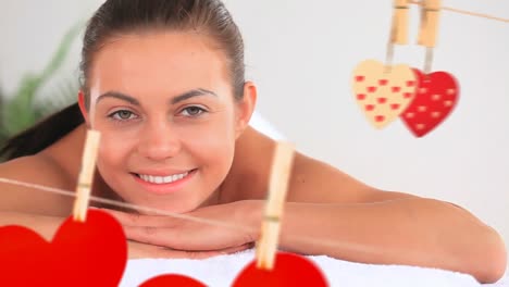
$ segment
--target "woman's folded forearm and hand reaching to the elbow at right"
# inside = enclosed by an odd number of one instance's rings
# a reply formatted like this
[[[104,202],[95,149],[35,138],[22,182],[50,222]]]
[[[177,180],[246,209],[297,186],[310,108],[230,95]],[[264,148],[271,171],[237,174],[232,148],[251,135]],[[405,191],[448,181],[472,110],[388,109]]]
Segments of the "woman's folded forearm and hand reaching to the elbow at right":
[[[264,205],[263,200],[243,200],[185,214],[207,224],[109,212],[132,240],[213,251],[259,240]],[[422,198],[373,203],[286,202],[280,248],[355,262],[458,271],[482,283],[496,282],[506,269],[505,246],[496,232],[462,209]]]

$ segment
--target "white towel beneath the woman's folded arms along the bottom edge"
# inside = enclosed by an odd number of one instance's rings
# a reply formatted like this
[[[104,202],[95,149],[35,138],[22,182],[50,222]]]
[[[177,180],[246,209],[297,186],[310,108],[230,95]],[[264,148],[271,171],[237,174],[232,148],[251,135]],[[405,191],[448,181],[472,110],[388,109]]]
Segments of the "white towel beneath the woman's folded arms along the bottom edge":
[[[481,285],[471,275],[444,270],[404,265],[361,264],[330,257],[307,257],[323,272],[330,286],[365,287],[509,287],[507,277],[494,285]],[[161,274],[190,276],[207,286],[231,286],[238,273],[254,259],[253,249],[204,260],[138,259],[129,260],[121,287],[138,286]]]

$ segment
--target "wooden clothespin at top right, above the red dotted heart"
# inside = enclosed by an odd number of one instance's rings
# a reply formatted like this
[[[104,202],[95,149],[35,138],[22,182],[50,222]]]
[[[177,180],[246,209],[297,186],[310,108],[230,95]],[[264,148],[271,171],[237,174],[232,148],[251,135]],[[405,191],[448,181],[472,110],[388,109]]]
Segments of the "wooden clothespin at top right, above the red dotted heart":
[[[435,47],[440,8],[440,0],[422,0],[419,45],[427,48]]]

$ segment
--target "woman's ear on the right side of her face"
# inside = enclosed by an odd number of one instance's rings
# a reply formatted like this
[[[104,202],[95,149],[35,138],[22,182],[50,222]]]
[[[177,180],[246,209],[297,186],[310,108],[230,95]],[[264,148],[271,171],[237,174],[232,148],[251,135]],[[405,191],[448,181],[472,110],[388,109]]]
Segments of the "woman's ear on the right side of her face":
[[[257,104],[257,86],[254,86],[254,83],[246,82],[244,84],[244,97],[240,101],[237,101],[236,138],[238,138],[249,125],[249,120],[251,120],[252,112]]]

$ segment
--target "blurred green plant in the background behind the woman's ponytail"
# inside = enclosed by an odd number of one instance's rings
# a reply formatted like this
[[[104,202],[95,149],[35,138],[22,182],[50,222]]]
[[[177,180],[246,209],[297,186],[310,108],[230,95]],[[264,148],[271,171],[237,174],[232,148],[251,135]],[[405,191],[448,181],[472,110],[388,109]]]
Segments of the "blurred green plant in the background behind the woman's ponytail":
[[[13,96],[7,97],[0,89],[0,147],[8,138],[33,126],[41,117],[75,99],[77,92],[76,80],[61,85],[58,90],[51,91],[49,97],[44,97],[44,100],[37,100],[36,95],[62,66],[82,26],[77,24],[65,33],[58,50],[42,72],[26,74]]]

